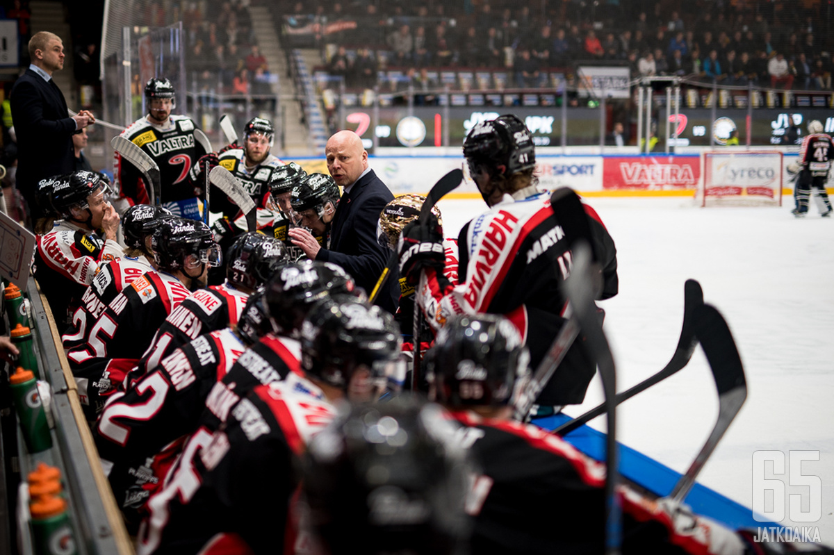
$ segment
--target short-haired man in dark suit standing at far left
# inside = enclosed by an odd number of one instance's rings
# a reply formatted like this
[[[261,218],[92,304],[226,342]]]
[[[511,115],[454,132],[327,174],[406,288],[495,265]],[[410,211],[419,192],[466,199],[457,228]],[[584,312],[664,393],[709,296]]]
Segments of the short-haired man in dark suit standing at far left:
[[[63,69],[61,37],[36,32],[29,40],[29,57],[32,65],[14,83],[9,102],[18,135],[18,189],[34,221],[43,216],[35,203],[38,182],[73,172],[73,133],[95,122],[95,118],[86,110],[69,117],[67,101],[53,81],[53,72]]]

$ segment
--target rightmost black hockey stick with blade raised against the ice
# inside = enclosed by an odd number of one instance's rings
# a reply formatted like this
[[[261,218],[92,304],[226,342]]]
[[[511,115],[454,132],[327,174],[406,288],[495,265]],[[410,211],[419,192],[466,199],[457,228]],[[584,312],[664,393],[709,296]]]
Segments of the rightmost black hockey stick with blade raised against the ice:
[[[669,497],[676,502],[683,502],[686,495],[695,485],[698,474],[710,458],[718,442],[730,427],[736,414],[741,410],[747,398],[747,383],[744,377],[744,367],[732,338],[730,328],[716,308],[708,304],[696,308],[695,333],[701,348],[704,349],[706,360],[710,363],[712,377],[718,389],[718,419],[712,428],[710,437],[701,448],[695,460],[681,476]]]

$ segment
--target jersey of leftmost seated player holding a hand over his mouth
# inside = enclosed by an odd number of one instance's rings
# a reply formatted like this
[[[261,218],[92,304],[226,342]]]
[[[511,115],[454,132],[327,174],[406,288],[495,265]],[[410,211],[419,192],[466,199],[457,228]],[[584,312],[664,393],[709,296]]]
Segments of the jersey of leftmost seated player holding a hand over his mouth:
[[[38,235],[34,275],[49,302],[58,329],[72,321],[84,292],[103,263],[123,255],[116,241],[61,220]]]

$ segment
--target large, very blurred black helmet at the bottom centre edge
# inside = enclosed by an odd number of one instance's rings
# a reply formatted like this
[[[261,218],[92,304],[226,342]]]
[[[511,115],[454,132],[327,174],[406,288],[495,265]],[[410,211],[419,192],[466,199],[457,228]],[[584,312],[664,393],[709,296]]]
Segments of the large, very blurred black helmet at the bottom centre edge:
[[[304,457],[309,522],[324,551],[460,552],[474,468],[457,438],[442,408],[415,398],[340,413]]]

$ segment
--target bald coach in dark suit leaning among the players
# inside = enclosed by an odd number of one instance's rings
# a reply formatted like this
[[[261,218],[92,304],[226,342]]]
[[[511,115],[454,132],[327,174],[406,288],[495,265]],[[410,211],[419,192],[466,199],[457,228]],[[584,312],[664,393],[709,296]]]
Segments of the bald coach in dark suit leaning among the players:
[[[329,248],[319,248],[313,236],[300,228],[290,231],[293,243],[308,258],[338,264],[370,294],[389,257],[389,251],[377,239],[379,213],[394,200],[394,195],[369,168],[368,152],[353,131],[335,133],[324,154],[330,176],[344,188],[330,226]],[[399,303],[396,279],[388,280],[376,303],[394,313]]]

